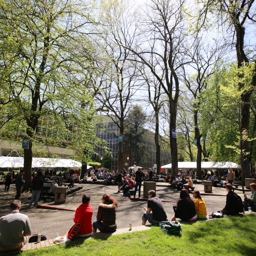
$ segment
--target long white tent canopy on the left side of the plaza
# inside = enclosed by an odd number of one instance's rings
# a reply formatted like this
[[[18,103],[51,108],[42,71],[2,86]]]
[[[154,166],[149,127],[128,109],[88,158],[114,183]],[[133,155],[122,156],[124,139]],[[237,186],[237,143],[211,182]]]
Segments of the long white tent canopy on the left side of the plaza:
[[[0,157],[0,168],[23,168],[23,157]],[[81,167],[82,164],[73,159],[33,157],[32,168]],[[87,166],[87,169],[92,166]]]

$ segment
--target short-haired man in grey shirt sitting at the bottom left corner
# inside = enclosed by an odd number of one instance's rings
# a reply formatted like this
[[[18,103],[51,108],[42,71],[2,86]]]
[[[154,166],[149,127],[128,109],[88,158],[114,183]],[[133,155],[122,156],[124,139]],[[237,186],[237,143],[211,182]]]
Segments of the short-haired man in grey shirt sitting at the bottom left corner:
[[[29,217],[20,208],[20,200],[12,200],[11,212],[0,218],[0,252],[20,250],[31,235]]]

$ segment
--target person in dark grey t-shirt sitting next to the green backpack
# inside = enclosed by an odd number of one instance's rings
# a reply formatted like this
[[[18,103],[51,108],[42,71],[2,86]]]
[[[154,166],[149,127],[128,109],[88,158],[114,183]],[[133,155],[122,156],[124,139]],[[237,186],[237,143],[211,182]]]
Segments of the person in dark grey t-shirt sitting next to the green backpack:
[[[142,216],[142,225],[148,221],[150,224],[159,224],[160,221],[166,221],[167,215],[163,207],[161,199],[157,198],[154,190],[148,191],[148,207],[144,207],[144,214]],[[150,213],[152,211],[152,213]]]

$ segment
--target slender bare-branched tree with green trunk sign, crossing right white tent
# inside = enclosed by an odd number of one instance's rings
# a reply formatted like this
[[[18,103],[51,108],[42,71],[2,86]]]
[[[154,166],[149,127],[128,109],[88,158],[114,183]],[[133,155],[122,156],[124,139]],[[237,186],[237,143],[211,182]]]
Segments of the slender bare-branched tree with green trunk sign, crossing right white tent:
[[[202,178],[202,153],[204,154],[204,157],[207,158],[205,155],[206,150],[203,150],[201,145],[201,138],[203,136],[200,128],[201,93],[207,87],[207,80],[215,72],[215,66],[218,65],[218,62],[221,60],[221,57],[224,55],[225,49],[227,48],[223,47],[220,41],[212,40],[212,44],[209,44],[209,41],[209,37],[207,38],[207,41],[205,41],[203,38],[196,36],[194,44],[186,52],[186,55],[191,61],[186,65],[188,67],[182,67],[183,82],[192,94],[194,134],[197,146],[196,174],[200,179]],[[191,75],[187,73],[188,69],[191,70]]]

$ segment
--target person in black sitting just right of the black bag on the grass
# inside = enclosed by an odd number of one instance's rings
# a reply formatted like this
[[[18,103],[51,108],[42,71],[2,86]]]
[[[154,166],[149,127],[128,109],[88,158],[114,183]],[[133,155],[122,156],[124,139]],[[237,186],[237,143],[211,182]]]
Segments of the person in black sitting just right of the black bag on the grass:
[[[244,211],[244,204],[239,195],[233,192],[233,186],[230,183],[226,185],[227,190],[227,200],[224,209],[222,210],[223,214],[227,215],[236,215],[239,212]]]

